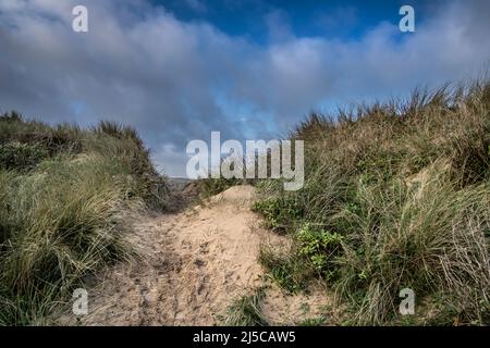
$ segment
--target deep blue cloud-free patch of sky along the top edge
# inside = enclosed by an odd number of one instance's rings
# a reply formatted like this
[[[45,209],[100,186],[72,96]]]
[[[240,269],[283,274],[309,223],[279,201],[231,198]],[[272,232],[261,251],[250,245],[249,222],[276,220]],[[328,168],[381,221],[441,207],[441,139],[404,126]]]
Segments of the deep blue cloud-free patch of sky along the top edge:
[[[230,36],[267,45],[270,42],[267,17],[271,15],[284,21],[284,26],[298,37],[355,40],[380,22],[397,24],[399,9],[406,1],[154,0],[152,3],[164,7],[181,21],[211,23]],[[419,21],[424,21],[434,3],[411,2],[419,9]]]

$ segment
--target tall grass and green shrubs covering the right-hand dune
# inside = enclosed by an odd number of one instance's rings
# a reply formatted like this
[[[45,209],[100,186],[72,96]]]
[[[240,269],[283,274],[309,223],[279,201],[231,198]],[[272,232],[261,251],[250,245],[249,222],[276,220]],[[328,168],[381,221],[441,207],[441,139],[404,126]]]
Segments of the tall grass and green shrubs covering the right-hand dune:
[[[279,285],[323,279],[350,324],[490,323],[490,83],[313,114],[292,138],[305,140],[305,186],[262,181],[253,207],[294,240],[261,252]]]

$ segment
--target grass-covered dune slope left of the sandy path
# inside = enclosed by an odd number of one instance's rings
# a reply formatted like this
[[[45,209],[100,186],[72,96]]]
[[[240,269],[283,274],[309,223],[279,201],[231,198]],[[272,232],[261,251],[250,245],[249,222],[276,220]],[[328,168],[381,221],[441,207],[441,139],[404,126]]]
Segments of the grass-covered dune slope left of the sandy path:
[[[166,209],[136,132],[0,116],[0,325],[42,324],[103,264],[133,256],[124,212]]]

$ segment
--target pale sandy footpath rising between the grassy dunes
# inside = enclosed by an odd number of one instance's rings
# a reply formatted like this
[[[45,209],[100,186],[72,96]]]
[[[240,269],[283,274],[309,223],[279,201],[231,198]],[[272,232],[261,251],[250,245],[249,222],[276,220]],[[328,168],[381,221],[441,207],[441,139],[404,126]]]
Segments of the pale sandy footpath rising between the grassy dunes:
[[[261,243],[286,238],[259,227],[249,210],[252,186],[236,186],[205,206],[176,214],[142,216],[128,234],[140,260],[119,264],[87,285],[88,314],[62,324],[219,325],[233,299],[265,283],[257,258]],[[262,313],[271,324],[295,324],[331,304],[326,290],[290,296],[268,286]]]

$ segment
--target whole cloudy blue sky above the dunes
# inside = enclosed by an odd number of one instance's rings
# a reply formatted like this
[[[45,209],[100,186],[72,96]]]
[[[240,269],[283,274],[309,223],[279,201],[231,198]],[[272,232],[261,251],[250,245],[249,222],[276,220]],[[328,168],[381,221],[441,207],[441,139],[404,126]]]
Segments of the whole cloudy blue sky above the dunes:
[[[0,111],[132,125],[185,176],[187,142],[212,130],[280,138],[311,111],[481,76],[488,33],[486,0],[0,0]]]

